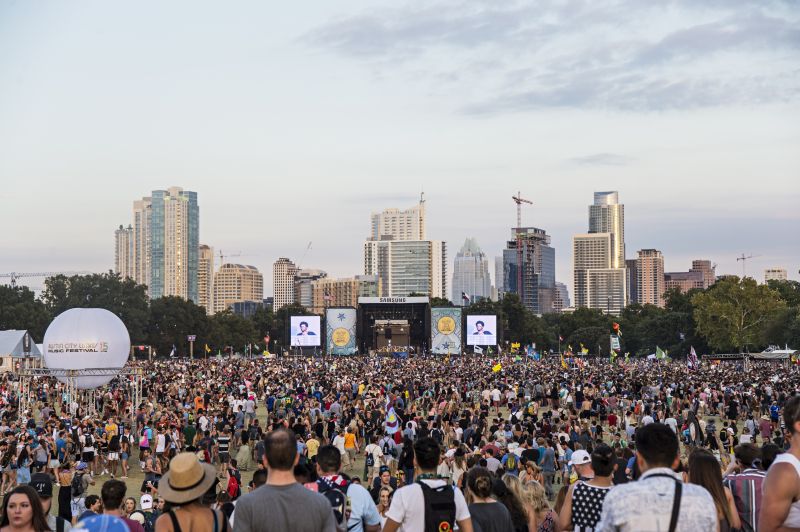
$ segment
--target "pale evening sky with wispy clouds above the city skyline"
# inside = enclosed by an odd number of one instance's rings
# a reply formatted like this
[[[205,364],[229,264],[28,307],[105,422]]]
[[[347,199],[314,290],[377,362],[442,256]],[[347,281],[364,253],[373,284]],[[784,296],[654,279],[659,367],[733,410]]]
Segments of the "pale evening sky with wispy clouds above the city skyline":
[[[0,273],[113,268],[133,201],[181,186],[265,295],[278,257],[363,273],[370,213],[422,191],[451,272],[467,237],[500,254],[520,191],[571,287],[572,235],[618,190],[628,258],[798,279],[800,10],[6,0],[0,146]]]

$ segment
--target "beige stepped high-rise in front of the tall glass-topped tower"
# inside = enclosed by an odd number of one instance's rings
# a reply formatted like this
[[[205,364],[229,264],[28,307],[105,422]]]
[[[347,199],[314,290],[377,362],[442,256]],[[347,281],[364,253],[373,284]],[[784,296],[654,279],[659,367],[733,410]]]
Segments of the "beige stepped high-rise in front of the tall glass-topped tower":
[[[610,233],[572,237],[573,296],[576,307],[619,314],[626,303],[625,268],[611,268],[614,252]]]

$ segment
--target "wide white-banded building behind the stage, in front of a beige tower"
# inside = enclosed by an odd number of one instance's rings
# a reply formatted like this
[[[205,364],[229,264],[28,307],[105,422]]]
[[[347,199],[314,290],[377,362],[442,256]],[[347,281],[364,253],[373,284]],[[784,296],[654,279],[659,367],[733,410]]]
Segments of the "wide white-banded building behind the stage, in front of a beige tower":
[[[439,240],[368,240],[364,274],[379,279],[381,297],[447,295],[447,245]]]

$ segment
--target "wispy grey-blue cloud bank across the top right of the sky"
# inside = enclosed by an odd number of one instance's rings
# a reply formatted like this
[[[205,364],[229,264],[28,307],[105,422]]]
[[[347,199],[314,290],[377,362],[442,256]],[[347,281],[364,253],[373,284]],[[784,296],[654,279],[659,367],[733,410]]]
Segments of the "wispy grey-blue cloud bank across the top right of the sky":
[[[331,21],[303,39],[425,84],[467,115],[683,110],[800,95],[800,15],[790,2],[407,4]]]

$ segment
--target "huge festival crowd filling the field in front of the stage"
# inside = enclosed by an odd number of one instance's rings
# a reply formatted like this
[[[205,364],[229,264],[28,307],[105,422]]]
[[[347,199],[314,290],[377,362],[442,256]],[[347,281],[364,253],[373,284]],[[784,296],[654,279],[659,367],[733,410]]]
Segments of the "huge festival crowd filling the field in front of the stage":
[[[87,404],[0,377],[1,530],[800,527],[800,372],[780,362],[134,364],[139,404],[119,379]]]

